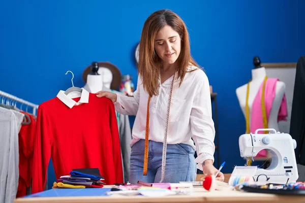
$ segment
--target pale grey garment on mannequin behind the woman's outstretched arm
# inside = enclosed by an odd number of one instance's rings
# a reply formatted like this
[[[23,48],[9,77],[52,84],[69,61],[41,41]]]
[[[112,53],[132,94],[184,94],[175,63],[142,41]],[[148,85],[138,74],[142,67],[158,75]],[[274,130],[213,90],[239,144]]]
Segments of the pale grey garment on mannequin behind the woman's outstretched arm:
[[[85,84],[83,88],[90,92],[90,88],[87,84]],[[122,94],[121,92],[109,89],[105,85],[103,86],[103,91],[111,91],[113,93]],[[132,141],[131,128],[130,128],[128,115],[123,115],[118,112],[115,112],[115,114],[118,124],[119,140],[121,146],[121,157],[123,161],[124,182],[127,183],[129,181],[129,174],[130,174],[130,155],[131,155],[130,143]]]

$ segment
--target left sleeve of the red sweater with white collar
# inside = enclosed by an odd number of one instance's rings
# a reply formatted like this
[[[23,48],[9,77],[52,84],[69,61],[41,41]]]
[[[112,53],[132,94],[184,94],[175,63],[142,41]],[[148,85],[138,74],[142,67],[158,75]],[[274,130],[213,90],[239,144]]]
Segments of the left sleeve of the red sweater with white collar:
[[[44,190],[47,179],[47,168],[51,157],[51,130],[48,128],[47,114],[38,108],[34,139],[32,193]]]

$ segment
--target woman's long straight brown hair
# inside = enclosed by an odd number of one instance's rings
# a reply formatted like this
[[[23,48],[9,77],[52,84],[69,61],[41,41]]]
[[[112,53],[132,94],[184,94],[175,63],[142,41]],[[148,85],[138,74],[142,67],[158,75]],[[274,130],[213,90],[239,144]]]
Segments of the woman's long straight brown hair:
[[[184,21],[170,10],[159,10],[151,14],[145,21],[139,43],[139,75],[143,81],[144,90],[150,95],[158,95],[158,80],[162,59],[155,51],[155,39],[158,32],[169,25],[181,39],[181,51],[177,58],[177,74],[181,85],[190,64],[199,67],[191,56],[190,40]]]

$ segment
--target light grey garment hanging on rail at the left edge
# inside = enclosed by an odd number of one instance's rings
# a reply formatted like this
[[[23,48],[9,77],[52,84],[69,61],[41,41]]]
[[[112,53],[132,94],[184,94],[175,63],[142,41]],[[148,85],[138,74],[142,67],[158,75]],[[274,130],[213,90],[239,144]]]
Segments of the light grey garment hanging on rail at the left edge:
[[[23,118],[13,111],[0,107],[0,202],[6,203],[16,198],[19,177],[18,129]]]

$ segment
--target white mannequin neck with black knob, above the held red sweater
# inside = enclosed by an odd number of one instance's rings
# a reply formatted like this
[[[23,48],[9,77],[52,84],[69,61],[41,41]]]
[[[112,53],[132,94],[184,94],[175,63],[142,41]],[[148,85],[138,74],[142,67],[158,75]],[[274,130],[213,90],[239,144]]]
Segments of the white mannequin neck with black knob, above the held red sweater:
[[[91,73],[87,75],[87,86],[90,92],[96,93],[103,89],[103,76],[98,73],[99,64],[93,62],[91,66]]]

